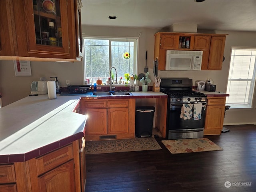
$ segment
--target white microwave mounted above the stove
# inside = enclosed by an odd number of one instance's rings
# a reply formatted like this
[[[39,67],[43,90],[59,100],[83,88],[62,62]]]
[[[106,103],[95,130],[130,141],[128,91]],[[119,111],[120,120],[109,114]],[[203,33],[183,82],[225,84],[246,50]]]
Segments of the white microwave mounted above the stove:
[[[167,71],[199,71],[202,65],[202,51],[166,51]]]

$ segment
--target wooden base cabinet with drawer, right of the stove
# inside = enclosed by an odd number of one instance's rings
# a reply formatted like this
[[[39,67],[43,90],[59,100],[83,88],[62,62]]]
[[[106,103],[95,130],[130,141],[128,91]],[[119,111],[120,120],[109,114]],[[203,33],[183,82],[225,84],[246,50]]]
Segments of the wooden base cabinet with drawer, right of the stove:
[[[224,121],[226,97],[208,97],[204,135],[219,135]]]

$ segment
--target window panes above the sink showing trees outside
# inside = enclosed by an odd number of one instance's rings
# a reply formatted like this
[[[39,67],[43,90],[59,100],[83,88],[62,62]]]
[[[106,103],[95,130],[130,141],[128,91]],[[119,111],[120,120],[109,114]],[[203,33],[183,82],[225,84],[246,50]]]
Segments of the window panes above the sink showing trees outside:
[[[118,80],[122,77],[125,81],[126,73],[136,74],[138,39],[83,37],[83,40],[84,79],[96,82],[100,77],[106,83],[111,67],[116,68]],[[124,58],[125,52],[130,54],[130,58]],[[115,70],[112,72],[115,80]]]

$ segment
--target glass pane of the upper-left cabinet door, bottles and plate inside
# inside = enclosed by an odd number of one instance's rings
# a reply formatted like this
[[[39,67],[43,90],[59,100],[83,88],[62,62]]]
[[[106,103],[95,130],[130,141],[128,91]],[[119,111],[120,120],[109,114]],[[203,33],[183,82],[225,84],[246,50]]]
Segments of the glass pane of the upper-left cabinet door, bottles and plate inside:
[[[59,0],[33,0],[36,44],[62,47]]]

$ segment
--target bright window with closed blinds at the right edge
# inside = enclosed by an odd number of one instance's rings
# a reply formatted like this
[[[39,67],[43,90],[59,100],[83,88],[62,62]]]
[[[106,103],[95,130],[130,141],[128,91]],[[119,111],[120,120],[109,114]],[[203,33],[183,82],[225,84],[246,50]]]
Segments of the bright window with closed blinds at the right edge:
[[[232,48],[226,104],[251,108],[256,74],[256,48]]]

